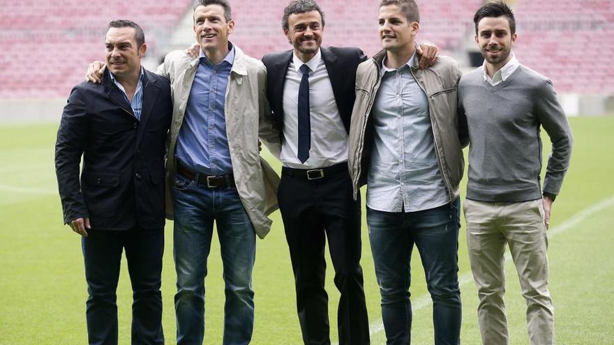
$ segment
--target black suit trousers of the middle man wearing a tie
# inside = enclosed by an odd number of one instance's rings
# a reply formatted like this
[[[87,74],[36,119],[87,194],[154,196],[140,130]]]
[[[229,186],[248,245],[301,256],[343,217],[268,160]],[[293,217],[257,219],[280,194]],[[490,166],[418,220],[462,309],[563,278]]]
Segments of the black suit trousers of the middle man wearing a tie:
[[[292,169],[284,168],[278,202],[290,248],[305,344],[330,344],[328,295],[324,289],[326,239],[335,269],[334,282],[341,293],[339,344],[369,344],[360,266],[360,199],[354,201],[352,197],[347,169],[308,180],[292,176]]]

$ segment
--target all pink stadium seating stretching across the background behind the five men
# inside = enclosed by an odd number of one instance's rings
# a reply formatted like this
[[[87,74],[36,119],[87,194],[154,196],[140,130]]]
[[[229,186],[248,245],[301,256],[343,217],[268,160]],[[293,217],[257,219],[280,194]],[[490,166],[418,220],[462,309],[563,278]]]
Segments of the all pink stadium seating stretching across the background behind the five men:
[[[288,0],[230,0],[236,22],[231,40],[247,54],[290,49],[281,29]],[[81,0],[3,0],[0,15],[0,98],[64,98],[83,79],[89,61],[103,59],[101,38],[110,20],[135,20],[150,46],[173,31],[191,0],[109,0],[93,10]],[[380,50],[379,0],[320,0],[327,24],[324,45]],[[462,52],[483,0],[419,0],[419,40],[443,54]],[[614,1],[516,0],[518,59],[553,80],[559,92],[614,93]],[[36,8],[36,11],[32,11]],[[599,38],[596,40],[595,38]],[[587,47],[597,49],[587,49]]]

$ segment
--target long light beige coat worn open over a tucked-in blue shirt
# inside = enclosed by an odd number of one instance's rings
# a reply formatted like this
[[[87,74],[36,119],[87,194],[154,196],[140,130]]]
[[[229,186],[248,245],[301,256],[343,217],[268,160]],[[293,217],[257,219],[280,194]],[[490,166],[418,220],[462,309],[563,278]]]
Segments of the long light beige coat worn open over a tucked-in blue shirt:
[[[261,61],[253,59],[234,45],[234,63],[230,70],[224,99],[226,135],[234,182],[258,237],[264,238],[271,229],[267,217],[278,208],[279,176],[269,163],[260,157],[258,139],[276,157],[281,151],[279,132],[267,101],[267,70]],[[199,58],[191,58],[182,51],[170,52],[158,67],[158,74],[170,79],[173,116],[169,133],[166,163],[166,215],[173,219],[171,186],[177,173],[175,148],[186,104],[196,75]]]

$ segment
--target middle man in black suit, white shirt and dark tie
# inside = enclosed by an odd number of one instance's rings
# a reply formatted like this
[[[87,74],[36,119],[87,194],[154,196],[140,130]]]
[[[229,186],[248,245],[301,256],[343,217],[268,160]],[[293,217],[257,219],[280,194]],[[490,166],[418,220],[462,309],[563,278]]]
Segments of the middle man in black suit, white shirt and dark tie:
[[[360,200],[352,198],[347,169],[356,69],[366,56],[358,48],[320,47],[323,29],[315,1],[293,1],[284,9],[283,31],[294,49],[262,58],[283,143],[278,202],[305,344],[330,344],[325,238],[341,293],[339,344],[368,344]]]

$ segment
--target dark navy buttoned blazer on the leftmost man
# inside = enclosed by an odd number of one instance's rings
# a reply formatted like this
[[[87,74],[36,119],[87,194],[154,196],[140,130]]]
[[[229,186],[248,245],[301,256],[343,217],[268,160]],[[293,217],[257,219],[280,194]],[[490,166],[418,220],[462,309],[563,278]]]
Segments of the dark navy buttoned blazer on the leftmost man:
[[[102,84],[77,84],[64,107],[55,146],[64,222],[89,217],[92,229],[164,227],[171,118],[170,82],[148,70],[140,121],[108,70]]]

